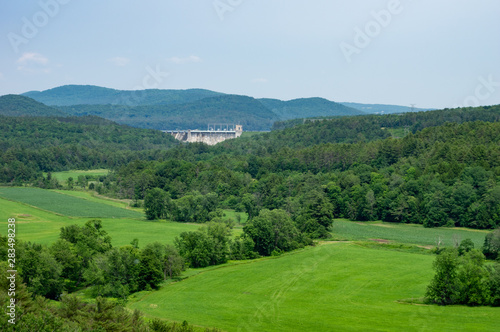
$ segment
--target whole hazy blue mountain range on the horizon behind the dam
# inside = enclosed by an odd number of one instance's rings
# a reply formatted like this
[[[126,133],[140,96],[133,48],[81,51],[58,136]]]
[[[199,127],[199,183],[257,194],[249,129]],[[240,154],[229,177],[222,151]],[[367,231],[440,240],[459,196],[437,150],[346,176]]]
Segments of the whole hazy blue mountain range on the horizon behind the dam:
[[[209,123],[238,123],[245,130],[270,130],[275,121],[371,113],[404,113],[409,107],[337,103],[324,98],[255,99],[205,89],[125,91],[65,85],[23,96],[69,115],[96,115],[151,129],[202,129]],[[420,109],[415,109],[418,111]]]

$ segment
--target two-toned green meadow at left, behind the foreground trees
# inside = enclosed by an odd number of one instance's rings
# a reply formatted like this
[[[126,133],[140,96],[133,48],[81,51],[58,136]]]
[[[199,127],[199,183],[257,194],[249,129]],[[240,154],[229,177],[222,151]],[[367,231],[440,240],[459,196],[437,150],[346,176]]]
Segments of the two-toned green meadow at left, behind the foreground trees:
[[[15,218],[17,239],[49,245],[59,238],[61,227],[100,219],[114,246],[128,245],[133,239],[140,246],[155,241],[173,243],[180,233],[199,227],[146,221],[142,212],[126,206],[86,192],[0,188],[0,225],[7,229],[7,219]]]

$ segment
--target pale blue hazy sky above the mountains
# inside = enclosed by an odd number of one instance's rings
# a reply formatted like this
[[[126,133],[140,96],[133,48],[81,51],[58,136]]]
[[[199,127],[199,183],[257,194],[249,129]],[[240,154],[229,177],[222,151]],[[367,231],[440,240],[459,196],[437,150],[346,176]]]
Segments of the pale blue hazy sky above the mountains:
[[[0,8],[0,95],[83,84],[417,108],[500,104],[498,0],[23,0]]]

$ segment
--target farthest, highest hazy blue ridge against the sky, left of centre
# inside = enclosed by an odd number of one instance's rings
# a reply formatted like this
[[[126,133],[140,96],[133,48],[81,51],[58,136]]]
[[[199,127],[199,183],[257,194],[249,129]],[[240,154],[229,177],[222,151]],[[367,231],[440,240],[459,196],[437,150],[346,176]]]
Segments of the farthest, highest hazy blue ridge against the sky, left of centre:
[[[23,94],[51,106],[69,105],[161,105],[184,104],[221,93],[203,90],[115,90],[93,85],[65,85],[45,91],[30,91]]]

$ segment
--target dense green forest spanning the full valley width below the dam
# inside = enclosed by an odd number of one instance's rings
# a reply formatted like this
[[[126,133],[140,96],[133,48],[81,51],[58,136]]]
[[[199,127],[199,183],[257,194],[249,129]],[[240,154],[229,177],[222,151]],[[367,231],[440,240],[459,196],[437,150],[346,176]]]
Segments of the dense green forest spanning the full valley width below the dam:
[[[320,236],[326,232],[307,224],[305,206],[326,204],[326,215],[358,221],[494,228],[500,222],[499,111],[494,106],[314,121],[215,147],[174,149],[168,149],[175,145],[171,137],[117,125],[88,125],[78,135],[71,121],[80,118],[45,119],[50,129],[43,121],[32,128],[29,119],[5,118],[1,176],[4,183],[46,184],[40,171],[112,167],[111,185],[98,186],[101,193],[140,203],[159,188],[180,206],[172,211],[184,211],[169,216],[179,221],[192,221],[186,206],[196,197],[214,195],[214,209],[251,217],[282,209],[299,228]],[[400,139],[387,130],[407,127]],[[44,133],[57,128],[61,136],[55,140]],[[79,140],[65,143],[63,136],[72,138],[63,128],[76,130]],[[53,143],[42,143],[44,138]],[[43,148],[28,148],[35,140]],[[164,150],[153,150],[158,147]]]

